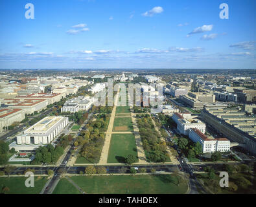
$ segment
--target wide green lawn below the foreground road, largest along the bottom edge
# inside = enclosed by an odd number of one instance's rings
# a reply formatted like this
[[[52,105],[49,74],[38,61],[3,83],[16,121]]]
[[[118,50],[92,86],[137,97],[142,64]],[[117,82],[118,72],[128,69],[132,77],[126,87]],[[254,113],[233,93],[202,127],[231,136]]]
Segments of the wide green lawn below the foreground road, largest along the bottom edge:
[[[73,176],[71,179],[90,194],[174,194],[187,191],[187,184],[178,186],[172,175]]]

